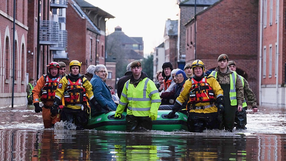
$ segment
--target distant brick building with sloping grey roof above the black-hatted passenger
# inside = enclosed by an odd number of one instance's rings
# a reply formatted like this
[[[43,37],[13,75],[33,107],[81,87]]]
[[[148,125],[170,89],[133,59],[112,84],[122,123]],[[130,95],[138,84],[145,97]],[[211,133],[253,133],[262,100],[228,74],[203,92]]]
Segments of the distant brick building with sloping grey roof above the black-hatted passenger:
[[[178,43],[178,20],[168,19],[164,30],[165,60],[171,62],[173,68],[177,68],[177,43]]]

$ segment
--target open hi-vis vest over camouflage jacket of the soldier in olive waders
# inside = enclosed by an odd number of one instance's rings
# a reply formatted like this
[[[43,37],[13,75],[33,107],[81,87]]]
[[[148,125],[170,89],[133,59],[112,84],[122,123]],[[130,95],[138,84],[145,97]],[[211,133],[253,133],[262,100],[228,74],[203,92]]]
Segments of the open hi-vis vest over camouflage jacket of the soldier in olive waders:
[[[210,74],[212,76],[214,76],[217,79],[217,71],[212,71],[212,73]],[[236,83],[236,72],[232,71],[231,74],[229,74],[230,76],[230,91],[229,91],[229,97],[230,97],[230,104],[231,106],[236,106],[237,105],[237,101],[236,101],[236,88],[235,88],[235,83]]]

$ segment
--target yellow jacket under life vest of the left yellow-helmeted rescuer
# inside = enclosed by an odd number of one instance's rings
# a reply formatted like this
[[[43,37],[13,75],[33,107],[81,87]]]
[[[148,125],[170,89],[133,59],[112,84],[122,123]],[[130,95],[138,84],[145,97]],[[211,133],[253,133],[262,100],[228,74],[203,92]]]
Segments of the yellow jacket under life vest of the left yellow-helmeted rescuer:
[[[72,83],[75,84],[76,82],[72,82]],[[92,85],[90,84],[90,82],[85,77],[83,77],[82,82],[80,83],[81,83],[81,86],[85,89],[85,92],[88,94],[88,98],[92,99],[94,96],[92,92]],[[57,97],[59,100],[62,100],[62,98],[64,97],[64,91],[66,91],[67,87],[68,87],[68,78],[63,77],[61,81],[59,82],[55,97]],[[68,107],[71,109],[81,109],[81,105],[82,103],[65,104],[64,107]]]

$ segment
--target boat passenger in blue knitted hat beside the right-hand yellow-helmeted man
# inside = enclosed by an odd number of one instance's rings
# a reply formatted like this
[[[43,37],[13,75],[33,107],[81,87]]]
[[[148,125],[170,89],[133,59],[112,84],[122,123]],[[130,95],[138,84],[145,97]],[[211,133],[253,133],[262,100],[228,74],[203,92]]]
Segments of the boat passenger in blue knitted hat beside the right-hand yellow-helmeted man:
[[[177,97],[181,93],[181,90],[183,88],[183,85],[185,84],[185,81],[188,80],[188,77],[186,76],[186,73],[183,70],[178,70],[176,72],[176,77],[173,78],[173,80],[174,79],[176,79],[177,84],[176,84],[175,88],[171,92],[164,92],[163,93],[164,95],[166,95],[165,98],[177,99]],[[185,101],[179,110],[185,109],[187,103],[188,103],[188,101]],[[174,105],[161,105],[161,106],[159,106],[159,110],[172,110],[173,107],[174,107]],[[183,111],[183,112],[185,113],[186,111]],[[167,117],[168,117],[168,115],[167,115]]]

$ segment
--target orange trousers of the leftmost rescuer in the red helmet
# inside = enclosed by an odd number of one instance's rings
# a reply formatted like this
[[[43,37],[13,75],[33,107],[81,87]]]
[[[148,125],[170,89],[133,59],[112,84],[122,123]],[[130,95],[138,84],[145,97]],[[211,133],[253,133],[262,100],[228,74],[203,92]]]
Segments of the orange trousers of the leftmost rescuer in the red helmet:
[[[50,109],[46,109],[43,107],[43,111],[42,111],[42,116],[43,116],[43,122],[44,122],[44,126],[45,128],[52,128],[52,124],[55,124],[56,122],[59,122],[60,119],[60,115],[56,115],[56,116],[51,116],[51,110]]]

